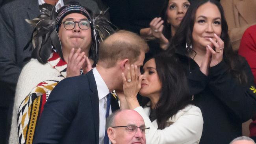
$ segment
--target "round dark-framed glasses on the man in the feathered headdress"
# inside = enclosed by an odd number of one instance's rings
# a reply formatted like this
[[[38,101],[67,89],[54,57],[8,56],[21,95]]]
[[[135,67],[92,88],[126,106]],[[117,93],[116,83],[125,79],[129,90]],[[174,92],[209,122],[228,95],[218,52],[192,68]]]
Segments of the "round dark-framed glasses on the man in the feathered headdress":
[[[91,21],[89,20],[81,20],[80,22],[74,22],[72,20],[66,20],[64,22],[61,22],[64,25],[64,28],[66,30],[73,30],[76,26],[76,23],[78,23],[78,26],[82,30],[88,30],[90,28]]]

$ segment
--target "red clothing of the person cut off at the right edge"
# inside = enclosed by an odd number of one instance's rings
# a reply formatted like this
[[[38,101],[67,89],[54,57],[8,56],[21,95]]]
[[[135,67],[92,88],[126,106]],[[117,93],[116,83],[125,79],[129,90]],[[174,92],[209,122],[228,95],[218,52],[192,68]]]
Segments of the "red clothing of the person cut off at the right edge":
[[[256,25],[250,26],[241,39],[238,54],[245,57],[248,61],[252,74],[254,76],[254,84],[256,84]],[[256,115],[252,118],[250,123],[250,137],[256,139]]]

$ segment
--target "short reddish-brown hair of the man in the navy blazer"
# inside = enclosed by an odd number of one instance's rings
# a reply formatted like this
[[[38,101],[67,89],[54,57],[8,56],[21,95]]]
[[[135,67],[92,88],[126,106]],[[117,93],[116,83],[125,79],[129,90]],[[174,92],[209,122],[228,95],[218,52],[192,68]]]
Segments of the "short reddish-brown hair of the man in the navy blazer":
[[[115,66],[122,59],[129,59],[133,63],[147,50],[147,43],[139,35],[120,30],[101,42],[98,63],[104,63],[106,68]]]

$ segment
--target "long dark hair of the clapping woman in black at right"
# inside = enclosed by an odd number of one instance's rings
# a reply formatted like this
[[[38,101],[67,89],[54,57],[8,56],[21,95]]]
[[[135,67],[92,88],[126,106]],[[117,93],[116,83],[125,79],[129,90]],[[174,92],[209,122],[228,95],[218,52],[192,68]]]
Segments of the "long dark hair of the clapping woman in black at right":
[[[203,4],[210,2],[218,7],[221,13],[221,36],[220,38],[224,41],[223,60],[228,65],[228,72],[239,79],[240,83],[247,81],[247,76],[243,70],[236,68],[236,63],[241,63],[241,57],[236,54],[230,44],[230,37],[228,35],[228,24],[224,17],[224,11],[221,4],[216,0],[195,0],[187,10],[185,17],[183,18],[180,27],[176,31],[176,34],[171,39],[170,45],[167,48],[167,53],[174,54],[178,49],[182,49],[187,56],[195,51],[191,50],[189,46],[193,45],[192,32],[195,23],[195,14],[198,7]],[[187,44],[187,48],[186,48]],[[196,55],[196,53],[195,53]]]

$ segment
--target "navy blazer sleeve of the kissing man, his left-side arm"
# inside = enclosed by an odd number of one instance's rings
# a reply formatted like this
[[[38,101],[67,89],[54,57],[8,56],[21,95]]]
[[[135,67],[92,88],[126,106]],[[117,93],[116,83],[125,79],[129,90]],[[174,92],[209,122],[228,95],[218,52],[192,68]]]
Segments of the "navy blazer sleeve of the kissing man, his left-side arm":
[[[65,135],[79,103],[79,90],[72,78],[63,79],[52,90],[35,129],[33,144],[58,144]]]

